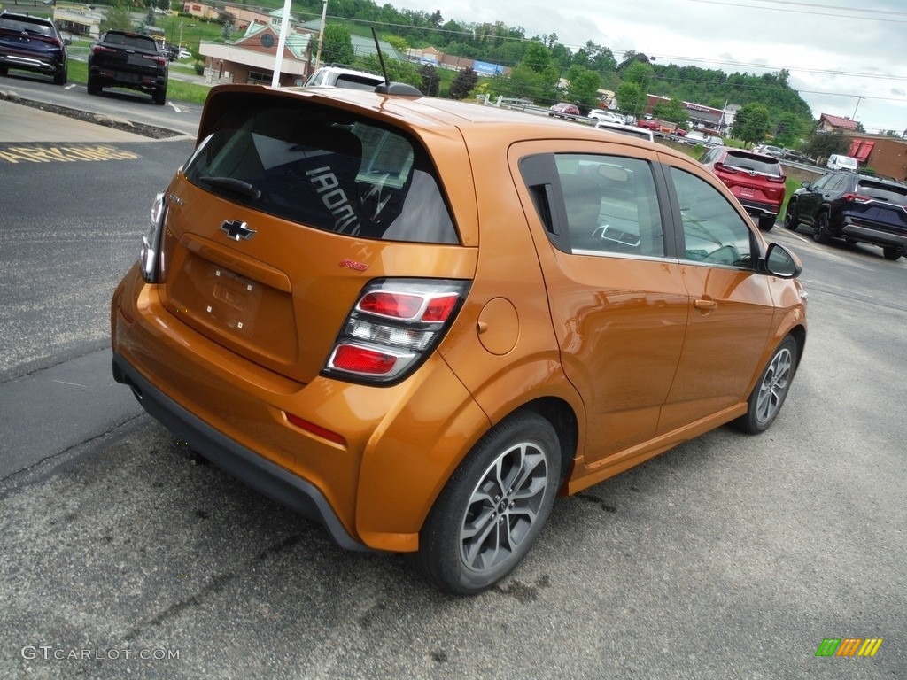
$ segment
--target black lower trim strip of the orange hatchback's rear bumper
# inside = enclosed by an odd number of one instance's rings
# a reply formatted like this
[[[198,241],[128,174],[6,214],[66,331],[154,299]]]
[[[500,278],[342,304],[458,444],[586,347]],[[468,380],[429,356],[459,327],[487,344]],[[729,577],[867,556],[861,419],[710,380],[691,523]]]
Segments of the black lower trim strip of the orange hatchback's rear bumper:
[[[344,528],[324,494],[308,481],[218,432],[146,380],[120,354],[113,355],[113,379],[128,385],[151,416],[191,448],[268,498],[325,526],[341,548],[367,550]]]

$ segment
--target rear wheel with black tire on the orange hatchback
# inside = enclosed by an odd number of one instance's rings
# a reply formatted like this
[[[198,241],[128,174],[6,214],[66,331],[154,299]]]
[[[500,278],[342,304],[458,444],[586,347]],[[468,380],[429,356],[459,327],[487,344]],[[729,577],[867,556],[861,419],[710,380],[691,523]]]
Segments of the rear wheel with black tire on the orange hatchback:
[[[476,443],[435,500],[416,567],[454,595],[492,588],[538,538],[560,481],[561,444],[551,423],[513,413]]]

